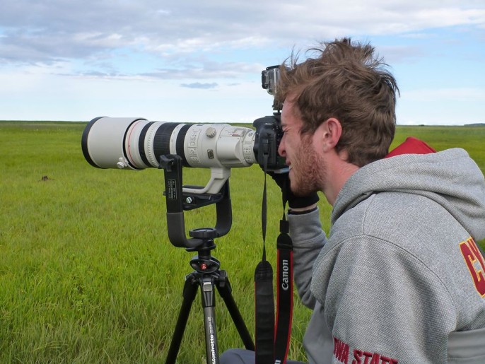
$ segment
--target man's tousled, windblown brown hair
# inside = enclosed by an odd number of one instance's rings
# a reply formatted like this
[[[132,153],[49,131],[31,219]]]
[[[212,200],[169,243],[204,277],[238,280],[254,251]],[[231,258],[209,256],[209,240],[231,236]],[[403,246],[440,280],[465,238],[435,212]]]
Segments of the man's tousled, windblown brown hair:
[[[383,158],[395,134],[395,78],[370,45],[348,38],[310,49],[318,57],[280,67],[277,100],[291,99],[303,122],[300,132],[313,134],[334,118],[341,124],[337,152],[362,167]],[[287,101],[288,101],[287,100]]]

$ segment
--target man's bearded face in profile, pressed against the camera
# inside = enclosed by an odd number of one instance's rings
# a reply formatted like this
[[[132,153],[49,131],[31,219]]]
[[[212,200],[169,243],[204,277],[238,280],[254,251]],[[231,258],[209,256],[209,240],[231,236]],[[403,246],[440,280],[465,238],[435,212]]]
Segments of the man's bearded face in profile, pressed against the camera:
[[[305,196],[320,190],[325,174],[325,161],[314,146],[313,134],[300,134],[303,121],[298,107],[288,99],[281,110],[284,131],[278,153],[290,168],[291,191]]]

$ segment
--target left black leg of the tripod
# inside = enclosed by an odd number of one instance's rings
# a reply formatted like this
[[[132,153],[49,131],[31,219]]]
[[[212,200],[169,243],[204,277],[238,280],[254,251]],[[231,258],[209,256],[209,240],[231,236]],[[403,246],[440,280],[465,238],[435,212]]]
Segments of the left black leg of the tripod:
[[[170,343],[170,348],[168,349],[165,364],[175,364],[175,360],[177,360],[182,337],[184,336],[185,326],[187,325],[187,320],[189,319],[190,309],[192,307],[192,303],[194,302],[195,295],[197,295],[198,283],[197,278],[194,277],[194,273],[189,274],[185,279],[184,290],[182,293],[184,300],[182,302],[182,307],[180,307],[180,313],[175,326],[175,331],[173,332],[172,342]]]

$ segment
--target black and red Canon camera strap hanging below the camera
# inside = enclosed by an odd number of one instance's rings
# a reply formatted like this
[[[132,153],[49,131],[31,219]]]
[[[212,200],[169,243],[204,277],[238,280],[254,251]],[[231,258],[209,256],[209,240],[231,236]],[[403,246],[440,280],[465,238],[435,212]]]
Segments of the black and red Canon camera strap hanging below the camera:
[[[273,269],[266,259],[267,225],[267,158],[264,158],[264,188],[262,199],[262,261],[255,271],[255,315],[256,315],[256,364],[286,363],[291,337],[293,315],[293,244],[288,235],[288,221],[284,209],[286,194],[283,193],[283,218],[280,221],[278,248],[276,329],[274,319]],[[275,335],[276,334],[276,335]]]

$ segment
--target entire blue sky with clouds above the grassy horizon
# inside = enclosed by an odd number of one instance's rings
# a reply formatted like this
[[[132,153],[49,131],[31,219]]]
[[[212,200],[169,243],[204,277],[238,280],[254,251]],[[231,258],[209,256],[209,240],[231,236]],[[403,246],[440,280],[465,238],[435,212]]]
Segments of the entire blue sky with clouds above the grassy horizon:
[[[0,0],[0,119],[247,122],[261,71],[370,42],[398,124],[485,122],[484,0]]]

